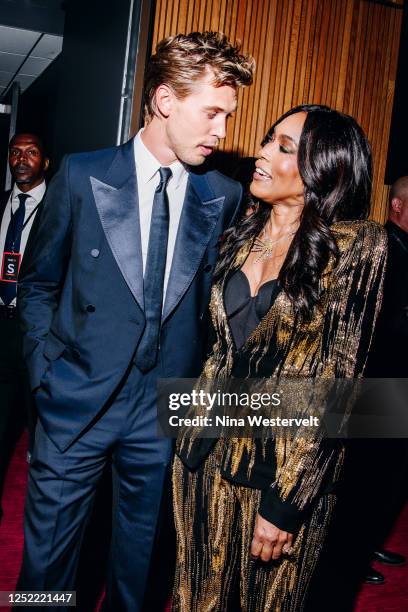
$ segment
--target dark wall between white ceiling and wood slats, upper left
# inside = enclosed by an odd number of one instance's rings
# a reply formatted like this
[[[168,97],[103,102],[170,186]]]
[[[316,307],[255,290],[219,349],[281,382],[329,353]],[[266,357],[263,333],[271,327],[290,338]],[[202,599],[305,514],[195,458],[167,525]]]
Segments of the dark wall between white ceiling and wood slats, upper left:
[[[22,95],[17,126],[40,132],[54,167],[65,153],[116,144],[130,4],[64,2],[62,53]]]

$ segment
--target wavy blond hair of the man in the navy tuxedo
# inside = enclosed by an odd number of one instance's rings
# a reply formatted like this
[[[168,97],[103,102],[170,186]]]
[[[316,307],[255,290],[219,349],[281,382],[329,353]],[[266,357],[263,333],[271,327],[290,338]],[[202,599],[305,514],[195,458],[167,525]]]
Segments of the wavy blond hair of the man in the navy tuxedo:
[[[255,60],[241,55],[239,45],[233,45],[221,32],[192,32],[169,36],[158,43],[145,74],[145,117],[157,114],[155,94],[160,85],[168,85],[177,98],[191,93],[192,83],[207,70],[214,73],[214,85],[246,87],[251,85]]]

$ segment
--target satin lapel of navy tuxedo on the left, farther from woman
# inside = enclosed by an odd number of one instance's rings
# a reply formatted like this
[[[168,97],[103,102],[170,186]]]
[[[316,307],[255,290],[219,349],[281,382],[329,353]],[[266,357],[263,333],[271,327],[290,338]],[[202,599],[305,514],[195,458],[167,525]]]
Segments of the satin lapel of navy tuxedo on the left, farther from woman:
[[[143,264],[136,172],[119,188],[91,176],[92,191],[106,238],[119,269],[140,308]]]

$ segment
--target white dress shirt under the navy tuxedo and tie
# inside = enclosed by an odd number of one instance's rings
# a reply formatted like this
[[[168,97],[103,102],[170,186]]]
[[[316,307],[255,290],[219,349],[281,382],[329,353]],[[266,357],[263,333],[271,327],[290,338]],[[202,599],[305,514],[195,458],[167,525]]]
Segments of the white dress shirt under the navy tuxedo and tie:
[[[136,164],[136,177],[139,195],[139,218],[140,236],[142,242],[143,274],[146,268],[147,249],[149,245],[150,222],[152,218],[153,199],[156,188],[160,182],[160,162],[143,143],[140,130],[134,140],[134,153]],[[167,243],[166,270],[164,273],[163,296],[166,295],[167,283],[170,276],[171,263],[173,260],[174,247],[176,244],[177,230],[179,226],[181,211],[183,209],[184,196],[186,194],[188,172],[179,161],[168,166],[172,176],[167,184],[167,196],[169,199],[169,239]]]

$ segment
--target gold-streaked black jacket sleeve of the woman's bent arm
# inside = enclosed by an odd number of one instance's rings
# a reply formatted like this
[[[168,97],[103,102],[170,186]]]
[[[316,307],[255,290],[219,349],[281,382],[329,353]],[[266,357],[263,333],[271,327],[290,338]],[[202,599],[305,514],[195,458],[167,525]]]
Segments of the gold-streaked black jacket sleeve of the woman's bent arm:
[[[358,378],[366,363],[378,315],[387,252],[385,231],[361,224],[354,242],[333,270],[320,345],[321,379]],[[259,512],[296,533],[313,502],[336,480],[342,463],[340,440],[299,434],[276,440],[277,476],[263,491]]]

